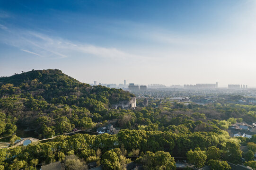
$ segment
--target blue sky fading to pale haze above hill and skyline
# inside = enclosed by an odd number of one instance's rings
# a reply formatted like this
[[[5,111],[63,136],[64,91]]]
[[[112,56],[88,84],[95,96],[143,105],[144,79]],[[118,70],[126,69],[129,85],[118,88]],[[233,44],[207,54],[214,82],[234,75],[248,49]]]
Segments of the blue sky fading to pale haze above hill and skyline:
[[[256,0],[0,0],[0,76],[256,87]]]

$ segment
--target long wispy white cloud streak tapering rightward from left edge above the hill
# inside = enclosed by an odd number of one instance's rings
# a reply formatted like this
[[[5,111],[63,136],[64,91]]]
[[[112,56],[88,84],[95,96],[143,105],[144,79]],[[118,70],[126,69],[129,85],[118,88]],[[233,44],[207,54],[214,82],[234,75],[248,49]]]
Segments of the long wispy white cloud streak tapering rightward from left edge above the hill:
[[[0,25],[2,29],[7,27]],[[7,31],[7,30],[6,30]],[[41,57],[67,58],[72,56],[100,57],[110,59],[137,58],[138,55],[119,50],[115,47],[106,48],[81,42],[72,42],[60,37],[53,37],[24,30],[8,30],[5,40],[9,45]],[[26,49],[26,50],[23,50]],[[32,52],[34,51],[34,52]]]

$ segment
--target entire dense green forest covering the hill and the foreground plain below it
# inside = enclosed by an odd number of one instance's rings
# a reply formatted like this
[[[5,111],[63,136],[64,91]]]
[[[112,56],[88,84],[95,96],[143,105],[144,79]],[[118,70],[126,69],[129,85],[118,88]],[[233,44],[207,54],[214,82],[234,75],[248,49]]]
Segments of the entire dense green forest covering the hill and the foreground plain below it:
[[[175,170],[176,157],[197,168],[230,170],[227,163],[256,168],[256,135],[230,138],[232,123],[256,121],[256,106],[215,102],[207,105],[150,100],[136,109],[111,109],[133,94],[122,89],[90,86],[60,70],[32,70],[0,78],[0,135],[18,126],[36,129],[38,138],[60,135],[47,142],[0,150],[0,170],[35,170],[37,165],[63,161],[66,169],[87,169],[97,162],[104,170],[122,170],[134,161],[145,170]],[[73,128],[95,131],[108,123],[116,135],[64,135]],[[13,144],[17,136],[11,138]],[[240,146],[249,148],[242,152]]]

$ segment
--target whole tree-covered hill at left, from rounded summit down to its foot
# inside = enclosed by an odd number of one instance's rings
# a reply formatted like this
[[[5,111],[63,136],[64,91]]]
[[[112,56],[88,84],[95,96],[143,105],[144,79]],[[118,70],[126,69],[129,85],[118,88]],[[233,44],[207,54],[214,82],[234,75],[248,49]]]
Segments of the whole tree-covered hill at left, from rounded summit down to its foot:
[[[58,69],[32,70],[0,78],[1,135],[15,125],[35,128],[44,136],[91,128],[112,104],[134,95],[121,89],[90,86]]]

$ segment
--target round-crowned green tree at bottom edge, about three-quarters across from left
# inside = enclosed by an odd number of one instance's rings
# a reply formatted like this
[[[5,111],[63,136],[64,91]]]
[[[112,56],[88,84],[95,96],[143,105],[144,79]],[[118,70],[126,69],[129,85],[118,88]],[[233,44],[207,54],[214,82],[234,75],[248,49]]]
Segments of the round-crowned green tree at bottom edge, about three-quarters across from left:
[[[188,162],[193,163],[197,168],[202,168],[207,159],[205,152],[200,148],[195,148],[194,151],[190,149],[186,155]]]

